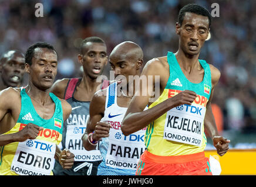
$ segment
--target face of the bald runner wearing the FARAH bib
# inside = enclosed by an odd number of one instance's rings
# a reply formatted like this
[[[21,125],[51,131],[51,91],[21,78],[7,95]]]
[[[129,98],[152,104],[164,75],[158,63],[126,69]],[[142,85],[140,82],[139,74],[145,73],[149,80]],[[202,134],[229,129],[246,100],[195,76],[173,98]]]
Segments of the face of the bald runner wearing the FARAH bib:
[[[111,65],[111,70],[114,71],[114,78],[117,80],[117,83],[125,81],[129,83],[129,75],[137,75],[137,61],[129,58],[125,55],[111,54],[109,58],[109,63]]]

